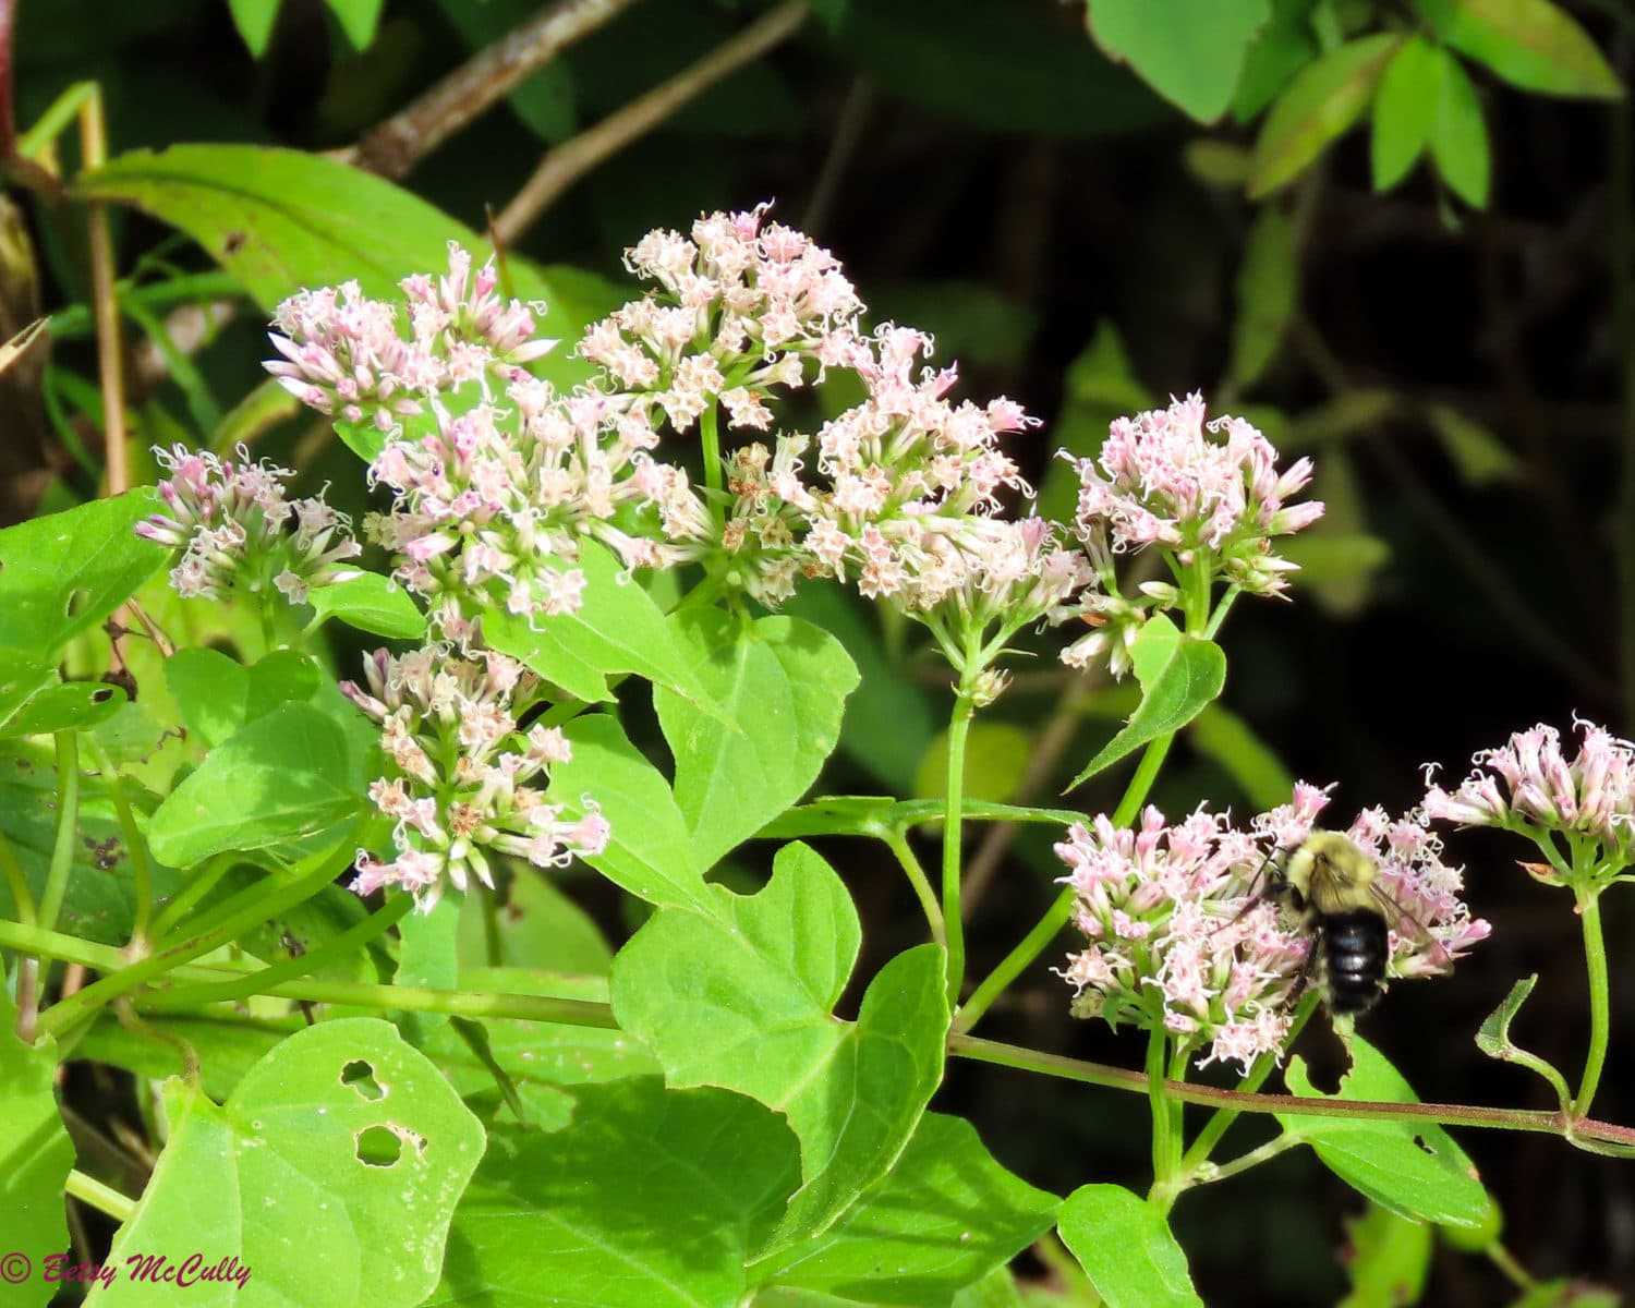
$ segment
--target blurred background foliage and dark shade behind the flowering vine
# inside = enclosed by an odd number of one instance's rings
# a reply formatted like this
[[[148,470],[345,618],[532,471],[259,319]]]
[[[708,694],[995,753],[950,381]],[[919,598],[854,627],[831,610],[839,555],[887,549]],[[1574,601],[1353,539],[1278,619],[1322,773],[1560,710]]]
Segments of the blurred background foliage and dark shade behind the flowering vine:
[[[1344,824],[1367,804],[1411,806],[1422,762],[1457,778],[1473,749],[1535,721],[1578,713],[1635,734],[1620,92],[1635,18],[1619,0],[1091,0],[1089,13],[1071,0],[7,0],[0,15],[16,183],[0,199],[0,332],[41,314],[52,327],[0,378],[0,522],[103,479],[83,206],[31,160],[118,201],[132,481],[154,443],[249,440],[353,513],[366,502],[353,455],[262,384],[281,294],[391,281],[409,250],[435,265],[455,234],[435,206],[473,231],[492,222],[543,265],[571,332],[629,294],[620,252],[646,229],[773,198],[780,221],[845,262],[876,320],[937,335],[963,394],[1004,392],[1045,420],[1024,458],[1058,517],[1073,486],[1051,455],[1094,453],[1109,419],[1171,394],[1202,389],[1288,458],[1316,459],[1329,508],[1290,549],[1306,569],[1295,602],[1238,607],[1226,693],[1156,791],[1167,813],[1251,813],[1303,777],[1339,783]],[[428,105],[440,78],[559,31],[574,39],[554,59],[428,149],[453,123]],[[723,51],[746,39],[759,46],[724,72]],[[52,106],[85,82],[113,157],[90,178],[72,134],[46,131],[67,126]],[[687,95],[656,103],[654,88]],[[338,162],[168,149],[181,142]],[[146,149],[160,154],[131,154]],[[554,190],[517,208],[541,162]],[[809,587],[791,608],[842,634],[865,674],[821,788],[934,795],[947,682],[916,633],[835,590]],[[217,634],[232,641],[229,618]],[[1128,687],[1064,672],[1056,641],[1037,646],[1037,669],[973,732],[978,796],[1051,803],[1133,705]],[[356,654],[337,649],[337,665]],[[639,697],[625,711],[633,731],[651,723]],[[1110,808],[1122,783],[1097,778],[1068,803]],[[1048,845],[1040,831],[973,842],[978,976],[1048,903]],[[863,912],[867,978],[917,938],[917,912],[883,850],[826,852]],[[1560,896],[1512,865],[1519,850],[1478,834],[1452,852],[1494,937],[1455,981],[1398,986],[1368,1037],[1424,1099],[1548,1107],[1472,1035],[1511,978],[1539,971],[1517,1035],[1571,1064],[1578,934]],[[754,885],[768,863],[752,844],[719,875]],[[623,938],[633,909],[590,878],[567,889],[520,893],[517,950],[605,966],[603,938]],[[1627,1045],[1635,981],[1617,945],[1635,912],[1619,896],[1607,912]],[[983,1033],[1140,1058],[1071,1022],[1043,968]],[[943,1102],[1037,1184],[1144,1184],[1136,1097],[961,1064]],[[1635,1122],[1627,1077],[1597,1112]],[[1527,1267],[1635,1290],[1627,1164],[1550,1136],[1463,1143]],[[1212,1305],[1406,1301],[1411,1277],[1370,1282],[1382,1259],[1419,1269],[1424,1301],[1504,1300],[1481,1259],[1357,1205],[1301,1151],[1189,1195],[1174,1223]]]

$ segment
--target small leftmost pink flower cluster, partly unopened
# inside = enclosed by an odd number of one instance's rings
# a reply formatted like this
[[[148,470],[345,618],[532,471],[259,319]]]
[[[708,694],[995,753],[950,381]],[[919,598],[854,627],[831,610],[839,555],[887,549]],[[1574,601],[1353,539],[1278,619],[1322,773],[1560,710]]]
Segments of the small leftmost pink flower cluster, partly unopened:
[[[177,594],[217,598],[276,589],[289,603],[304,603],[314,585],[356,576],[342,566],[363,551],[347,520],[319,497],[288,499],[288,468],[250,463],[242,445],[237,463],[185,445],[155,446],[154,458],[170,473],[159,482],[168,512],[139,522],[136,533],[181,549],[170,571]]]

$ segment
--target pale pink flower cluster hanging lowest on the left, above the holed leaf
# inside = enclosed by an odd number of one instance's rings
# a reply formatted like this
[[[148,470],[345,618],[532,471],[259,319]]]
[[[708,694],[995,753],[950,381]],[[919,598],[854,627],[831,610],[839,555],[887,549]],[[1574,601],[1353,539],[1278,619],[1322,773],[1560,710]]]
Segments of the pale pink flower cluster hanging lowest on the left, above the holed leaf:
[[[486,850],[546,868],[607,849],[608,824],[594,801],[567,816],[544,800],[549,767],[572,749],[559,728],[518,726],[540,688],[522,664],[492,651],[451,657],[425,646],[392,657],[379,649],[365,661],[365,682],[340,688],[383,728],[389,768],[370,798],[396,822],[396,857],[358,850],[355,891],[401,886],[430,912],[445,881],[494,888]]]

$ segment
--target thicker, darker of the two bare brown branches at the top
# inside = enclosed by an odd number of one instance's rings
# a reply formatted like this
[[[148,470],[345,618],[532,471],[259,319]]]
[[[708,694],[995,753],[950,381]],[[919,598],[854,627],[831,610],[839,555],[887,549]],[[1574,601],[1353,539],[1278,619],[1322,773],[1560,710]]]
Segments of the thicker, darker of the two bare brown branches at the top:
[[[3,0],[0,0],[3,3]],[[371,128],[343,157],[394,181],[558,54],[636,0],[558,0],[468,59],[409,108]]]

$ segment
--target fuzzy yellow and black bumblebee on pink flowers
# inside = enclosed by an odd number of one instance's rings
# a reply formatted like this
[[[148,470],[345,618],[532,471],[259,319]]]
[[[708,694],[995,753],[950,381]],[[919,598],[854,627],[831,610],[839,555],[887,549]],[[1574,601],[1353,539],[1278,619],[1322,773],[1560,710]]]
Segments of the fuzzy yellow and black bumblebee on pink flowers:
[[[1311,935],[1301,984],[1316,981],[1336,1017],[1372,1009],[1385,989],[1391,929],[1426,929],[1375,885],[1378,863],[1339,832],[1313,831],[1270,868],[1264,898],[1298,912]]]

